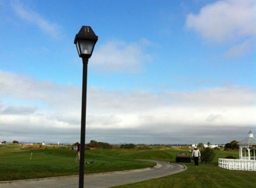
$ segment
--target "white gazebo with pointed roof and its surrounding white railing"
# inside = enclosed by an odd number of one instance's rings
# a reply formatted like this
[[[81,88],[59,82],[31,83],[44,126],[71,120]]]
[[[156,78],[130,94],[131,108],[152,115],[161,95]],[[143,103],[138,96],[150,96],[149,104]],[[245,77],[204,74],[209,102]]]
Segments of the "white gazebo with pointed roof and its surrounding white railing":
[[[239,143],[239,159],[218,159],[218,166],[230,170],[256,171],[256,139],[252,131]],[[251,153],[252,151],[252,153]]]

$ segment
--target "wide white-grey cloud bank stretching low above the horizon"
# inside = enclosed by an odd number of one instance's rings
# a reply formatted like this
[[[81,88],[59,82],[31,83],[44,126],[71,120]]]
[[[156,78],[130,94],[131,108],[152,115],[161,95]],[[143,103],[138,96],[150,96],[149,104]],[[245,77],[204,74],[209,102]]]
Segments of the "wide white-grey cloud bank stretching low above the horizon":
[[[80,86],[59,86],[0,71],[0,87],[0,138],[79,140]],[[15,103],[19,100],[22,102]],[[238,129],[247,132],[255,127],[255,101],[256,90],[231,86],[159,94],[88,88],[87,139],[111,143],[229,142],[226,139],[231,137],[223,138],[223,132],[229,130],[230,136],[237,136]]]

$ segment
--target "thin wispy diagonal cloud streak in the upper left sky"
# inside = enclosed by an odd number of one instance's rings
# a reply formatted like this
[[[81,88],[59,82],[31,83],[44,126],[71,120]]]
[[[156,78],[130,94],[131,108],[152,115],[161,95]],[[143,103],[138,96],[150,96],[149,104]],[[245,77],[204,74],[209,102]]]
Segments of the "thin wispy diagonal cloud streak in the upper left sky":
[[[16,12],[17,16],[19,16],[19,18],[33,25],[36,25],[44,33],[50,35],[55,39],[59,39],[62,36],[60,32],[60,25],[51,23],[49,20],[46,20],[37,12],[24,8],[24,6],[21,3],[17,3],[17,1],[16,3],[12,4],[12,7]]]

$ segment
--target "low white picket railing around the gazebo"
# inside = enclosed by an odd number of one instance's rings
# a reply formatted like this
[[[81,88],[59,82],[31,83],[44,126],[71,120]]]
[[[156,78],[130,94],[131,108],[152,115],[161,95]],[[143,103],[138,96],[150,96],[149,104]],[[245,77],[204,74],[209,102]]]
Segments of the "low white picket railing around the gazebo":
[[[218,159],[218,166],[229,170],[256,171],[256,160]]]

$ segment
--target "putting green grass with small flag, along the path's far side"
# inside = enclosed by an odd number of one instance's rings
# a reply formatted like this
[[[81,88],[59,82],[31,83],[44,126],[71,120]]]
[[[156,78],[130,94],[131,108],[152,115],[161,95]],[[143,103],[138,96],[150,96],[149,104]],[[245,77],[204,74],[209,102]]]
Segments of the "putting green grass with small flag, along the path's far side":
[[[32,153],[32,157],[31,157]],[[118,151],[92,150],[85,152],[85,173],[122,171],[152,167],[155,163],[115,156]],[[0,145],[0,181],[22,180],[79,173],[76,151],[67,148],[22,148],[19,145]]]

